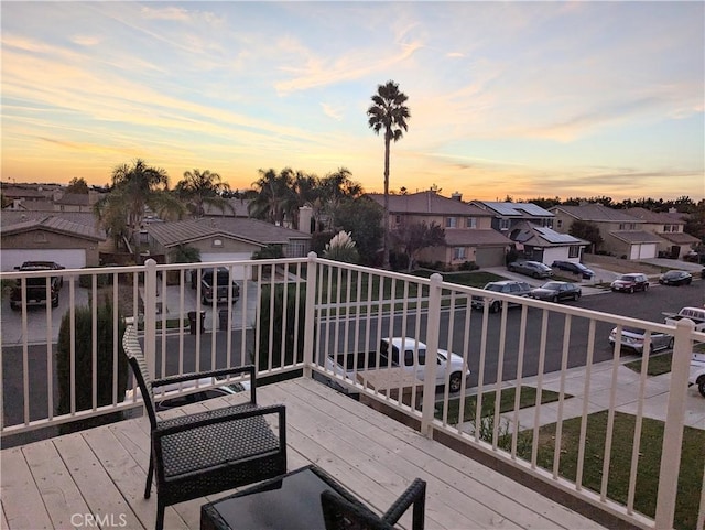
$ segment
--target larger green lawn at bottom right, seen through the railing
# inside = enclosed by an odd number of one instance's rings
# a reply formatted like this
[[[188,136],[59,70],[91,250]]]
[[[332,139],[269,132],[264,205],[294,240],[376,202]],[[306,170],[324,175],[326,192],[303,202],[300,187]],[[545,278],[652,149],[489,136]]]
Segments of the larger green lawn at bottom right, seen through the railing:
[[[607,415],[607,411],[603,411],[590,414],[587,419],[583,486],[595,491],[599,491],[603,479]],[[622,504],[627,502],[634,425],[633,415],[616,413],[607,496]],[[570,480],[575,480],[576,476],[579,434],[579,418],[563,422],[558,472]],[[523,431],[520,434],[522,443],[519,443],[518,446],[531,447],[532,435],[532,431]],[[553,468],[555,423],[541,428],[539,436],[541,442],[538,464],[551,470]],[[644,418],[641,446],[639,447],[634,509],[649,517],[655,515],[662,440],[663,422]],[[676,529],[694,529],[697,521],[697,508],[703,487],[703,468],[705,467],[703,447],[705,447],[705,431],[685,428],[675,507],[674,527]],[[530,459],[530,448],[524,451],[525,454],[521,454],[521,457]]]

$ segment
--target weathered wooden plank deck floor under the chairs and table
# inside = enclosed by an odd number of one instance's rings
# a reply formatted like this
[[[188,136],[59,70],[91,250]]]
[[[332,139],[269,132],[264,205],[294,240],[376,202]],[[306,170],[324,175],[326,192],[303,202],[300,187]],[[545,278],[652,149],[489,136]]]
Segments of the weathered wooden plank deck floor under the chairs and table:
[[[314,380],[263,387],[258,401],[286,405],[292,469],[315,463],[380,510],[426,480],[429,529],[603,528]],[[142,497],[148,432],[138,418],[3,450],[1,528],[97,528],[93,516],[101,528],[154,528],[155,495]],[[200,505],[218,497],[169,507],[165,528],[199,528]]]

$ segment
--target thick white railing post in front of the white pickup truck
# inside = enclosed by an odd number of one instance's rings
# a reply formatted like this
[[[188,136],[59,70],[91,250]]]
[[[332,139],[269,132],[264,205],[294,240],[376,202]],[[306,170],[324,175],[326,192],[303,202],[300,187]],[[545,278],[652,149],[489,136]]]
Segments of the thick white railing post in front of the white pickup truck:
[[[438,357],[438,329],[441,328],[441,294],[443,277],[431,275],[429,288],[429,317],[426,320],[426,366],[423,380],[423,408],[421,410],[421,434],[433,436],[432,422],[436,401],[436,359]]]

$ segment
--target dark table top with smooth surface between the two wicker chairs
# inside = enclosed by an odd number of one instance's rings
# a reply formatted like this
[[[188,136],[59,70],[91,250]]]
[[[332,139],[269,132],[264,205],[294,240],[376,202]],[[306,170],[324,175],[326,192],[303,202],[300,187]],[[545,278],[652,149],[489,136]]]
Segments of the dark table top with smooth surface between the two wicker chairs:
[[[321,494],[351,495],[314,465],[258,484],[200,508],[202,530],[325,530]]]

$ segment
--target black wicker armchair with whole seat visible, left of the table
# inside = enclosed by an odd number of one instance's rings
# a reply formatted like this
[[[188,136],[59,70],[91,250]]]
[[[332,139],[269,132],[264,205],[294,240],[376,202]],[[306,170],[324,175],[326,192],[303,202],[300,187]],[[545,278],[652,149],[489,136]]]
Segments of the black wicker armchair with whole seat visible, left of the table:
[[[144,498],[156,472],[156,529],[164,526],[166,506],[258,483],[286,473],[284,405],[257,405],[253,366],[150,380],[137,331],[128,326],[124,351],[142,392],[151,424],[150,467]],[[153,388],[204,377],[249,374],[250,401],[191,415],[160,419]],[[268,415],[279,422],[279,435]]]

